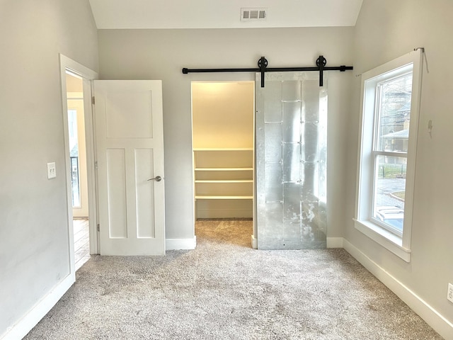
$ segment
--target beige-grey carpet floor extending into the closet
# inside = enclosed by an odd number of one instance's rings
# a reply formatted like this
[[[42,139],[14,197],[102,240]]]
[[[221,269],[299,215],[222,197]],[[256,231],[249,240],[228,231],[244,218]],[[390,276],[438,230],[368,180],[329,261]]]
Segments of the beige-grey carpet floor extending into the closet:
[[[251,221],[197,248],[91,256],[24,339],[442,339],[343,249],[251,249]]]

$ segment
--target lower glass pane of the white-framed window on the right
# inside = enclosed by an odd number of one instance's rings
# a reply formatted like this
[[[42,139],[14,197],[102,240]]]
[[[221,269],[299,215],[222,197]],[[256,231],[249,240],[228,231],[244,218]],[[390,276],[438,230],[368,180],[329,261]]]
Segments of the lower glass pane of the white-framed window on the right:
[[[406,191],[406,157],[377,156],[372,216],[401,234]]]

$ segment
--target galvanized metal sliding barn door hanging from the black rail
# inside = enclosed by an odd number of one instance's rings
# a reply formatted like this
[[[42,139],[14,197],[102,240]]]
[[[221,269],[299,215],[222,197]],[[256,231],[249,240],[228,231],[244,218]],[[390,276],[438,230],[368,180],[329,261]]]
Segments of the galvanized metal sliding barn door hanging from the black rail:
[[[327,81],[256,74],[258,249],[326,247]],[[326,77],[326,76],[324,76]]]

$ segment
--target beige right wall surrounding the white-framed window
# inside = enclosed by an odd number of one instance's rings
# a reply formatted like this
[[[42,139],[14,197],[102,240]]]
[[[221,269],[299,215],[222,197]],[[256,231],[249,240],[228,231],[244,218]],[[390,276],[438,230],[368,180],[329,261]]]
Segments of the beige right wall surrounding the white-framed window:
[[[453,322],[447,285],[453,283],[453,2],[365,0],[355,28],[354,73],[361,74],[415,47],[425,47],[429,73],[423,89],[415,167],[412,255],[406,263],[358,232],[352,223],[357,174],[360,77],[355,78],[349,115],[348,242]],[[428,121],[432,120],[432,137]],[[453,336],[453,329],[450,330]],[[448,338],[451,339],[451,338]]]

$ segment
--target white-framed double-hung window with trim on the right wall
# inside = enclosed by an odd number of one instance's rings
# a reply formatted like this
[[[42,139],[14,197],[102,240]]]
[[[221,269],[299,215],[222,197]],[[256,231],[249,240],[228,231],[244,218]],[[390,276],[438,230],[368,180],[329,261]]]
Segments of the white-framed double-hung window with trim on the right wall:
[[[408,262],[421,53],[362,74],[355,227]]]

